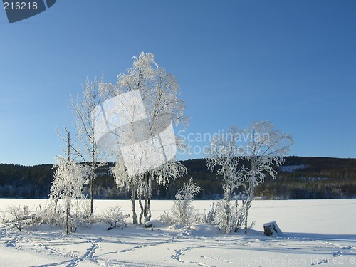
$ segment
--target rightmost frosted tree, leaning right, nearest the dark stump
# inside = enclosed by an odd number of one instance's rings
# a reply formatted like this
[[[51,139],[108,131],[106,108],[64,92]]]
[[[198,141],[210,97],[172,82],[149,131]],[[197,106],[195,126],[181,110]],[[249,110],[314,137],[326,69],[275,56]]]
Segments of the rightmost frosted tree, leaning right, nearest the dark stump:
[[[252,122],[241,131],[244,147],[240,147],[239,159],[248,161],[242,167],[245,188],[245,231],[247,231],[248,210],[255,197],[255,188],[264,182],[269,174],[276,179],[276,168],[284,164],[284,157],[290,152],[294,141],[290,134],[275,130],[271,122]]]

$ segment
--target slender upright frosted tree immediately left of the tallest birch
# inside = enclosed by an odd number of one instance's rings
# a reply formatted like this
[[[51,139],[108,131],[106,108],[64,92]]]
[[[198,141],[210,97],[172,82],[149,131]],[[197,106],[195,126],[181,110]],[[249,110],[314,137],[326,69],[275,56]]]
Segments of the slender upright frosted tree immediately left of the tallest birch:
[[[89,187],[90,187],[90,214],[94,214],[94,180],[95,169],[105,165],[105,155],[99,149],[95,141],[95,120],[92,114],[95,107],[100,105],[103,98],[100,96],[100,84],[103,83],[103,77],[85,81],[82,85],[82,93],[74,99],[70,94],[70,110],[75,117],[75,128],[78,131],[80,147],[72,147],[77,155],[90,167]]]

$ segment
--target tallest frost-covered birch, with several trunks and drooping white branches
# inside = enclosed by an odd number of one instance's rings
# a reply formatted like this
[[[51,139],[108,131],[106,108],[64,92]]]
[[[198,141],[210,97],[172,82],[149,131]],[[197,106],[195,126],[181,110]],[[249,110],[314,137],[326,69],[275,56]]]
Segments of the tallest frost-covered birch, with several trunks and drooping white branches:
[[[158,67],[152,53],[142,52],[138,58],[134,57],[132,68],[128,69],[127,73],[118,75],[116,84],[107,83],[105,86],[102,86],[101,89],[103,90],[103,95],[107,95],[108,98],[136,90],[140,92],[140,98],[142,98],[147,117],[145,117],[145,120],[140,120],[140,123],[130,123],[125,125],[125,127],[117,129],[115,135],[117,135],[117,138],[120,140],[122,147],[139,144],[142,140],[154,140],[152,141],[152,147],[155,147],[157,146],[157,142],[162,144],[164,140],[159,139],[158,136],[169,127],[171,123],[173,125],[178,125],[180,122],[184,125],[187,124],[187,117],[184,115],[185,103],[179,99],[180,90],[177,79],[167,73],[163,68]],[[131,107],[128,113],[130,116],[135,117],[135,111],[135,107]],[[175,138],[178,139],[178,137]],[[177,144],[180,144],[180,142],[177,141],[176,145]],[[132,154],[136,152],[135,150]],[[150,160],[153,163],[159,159],[157,155],[149,155],[150,152],[145,151],[144,153],[145,155],[133,155],[132,157],[142,157],[146,161]],[[117,154],[122,155],[121,152]],[[142,165],[145,164],[145,160],[142,164],[137,164],[136,168],[140,169]],[[167,182],[167,179],[162,177],[176,179],[182,177],[182,175],[187,172],[179,161],[174,159],[167,161],[167,163],[153,170],[129,175],[130,189],[136,189],[139,196],[142,195],[144,198],[143,216],[145,217],[145,221],[150,220],[152,179],[156,179],[159,184],[164,184]],[[119,167],[119,169],[120,168],[121,167]],[[114,175],[118,174],[116,171],[112,173]],[[127,177],[119,174],[115,179],[118,185],[122,184],[122,181],[119,181],[120,179],[124,179],[127,182]],[[135,192],[132,192],[131,195],[135,197]],[[131,201],[132,210],[134,210],[135,199],[131,198]],[[133,216],[135,221],[135,214]]]

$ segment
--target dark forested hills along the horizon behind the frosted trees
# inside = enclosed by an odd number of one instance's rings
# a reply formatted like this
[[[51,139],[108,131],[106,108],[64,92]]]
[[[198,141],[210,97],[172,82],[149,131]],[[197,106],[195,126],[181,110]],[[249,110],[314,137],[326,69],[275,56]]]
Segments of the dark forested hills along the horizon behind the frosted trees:
[[[222,177],[206,169],[205,159],[183,161],[188,174],[164,187],[152,184],[152,199],[174,199],[177,189],[192,177],[203,188],[196,199],[222,197]],[[241,162],[246,164],[246,162]],[[52,164],[21,166],[0,164],[0,198],[47,198],[53,181]],[[97,171],[95,199],[130,199],[129,192],[117,189],[109,174],[109,163]],[[282,167],[276,167],[276,181],[268,177],[256,188],[261,199],[326,199],[356,197],[356,159],[327,157],[286,157]],[[84,189],[88,194],[88,188]],[[236,192],[238,193],[238,192]]]

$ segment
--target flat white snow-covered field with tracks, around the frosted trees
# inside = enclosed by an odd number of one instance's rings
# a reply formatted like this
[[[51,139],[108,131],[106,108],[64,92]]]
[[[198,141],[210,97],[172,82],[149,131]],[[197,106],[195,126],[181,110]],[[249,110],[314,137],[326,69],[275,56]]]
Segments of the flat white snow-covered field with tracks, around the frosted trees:
[[[46,200],[0,199],[41,206]],[[204,213],[212,201],[194,201]],[[95,201],[95,213],[130,201]],[[172,201],[152,201],[152,219],[169,211]],[[138,212],[138,210],[137,210]],[[173,229],[157,225],[106,230],[100,224],[66,235],[63,229],[37,231],[0,228],[0,266],[356,266],[356,199],[253,201],[248,234],[223,234],[210,225]],[[276,221],[283,237],[263,235]]]

